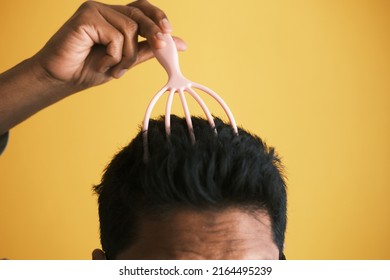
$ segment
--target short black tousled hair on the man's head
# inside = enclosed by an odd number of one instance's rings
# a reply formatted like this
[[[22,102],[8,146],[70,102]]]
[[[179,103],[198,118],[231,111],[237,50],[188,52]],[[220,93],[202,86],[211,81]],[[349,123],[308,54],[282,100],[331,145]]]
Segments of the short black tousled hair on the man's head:
[[[150,120],[149,157],[143,161],[143,135],[124,147],[94,187],[98,194],[100,238],[109,258],[115,258],[137,239],[142,214],[180,208],[225,209],[231,206],[266,210],[279,252],[286,231],[286,184],[274,148],[240,128],[215,118],[192,117],[192,143],[184,118],[171,116],[171,134],[164,116]]]

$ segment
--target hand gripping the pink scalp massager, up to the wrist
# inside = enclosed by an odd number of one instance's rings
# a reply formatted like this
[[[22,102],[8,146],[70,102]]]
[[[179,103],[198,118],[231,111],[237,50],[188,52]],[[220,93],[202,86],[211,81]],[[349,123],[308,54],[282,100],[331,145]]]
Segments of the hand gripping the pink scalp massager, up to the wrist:
[[[153,57],[149,44],[164,47],[159,37],[171,31],[164,12],[146,0],[127,6],[87,1],[33,59],[50,78],[81,90]],[[147,41],[138,42],[138,35]],[[175,42],[178,50],[186,48]]]

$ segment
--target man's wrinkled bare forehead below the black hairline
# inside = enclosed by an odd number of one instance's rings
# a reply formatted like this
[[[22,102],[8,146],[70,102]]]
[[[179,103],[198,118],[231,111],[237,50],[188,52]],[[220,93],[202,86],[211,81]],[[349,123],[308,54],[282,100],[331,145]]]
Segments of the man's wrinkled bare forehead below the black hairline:
[[[269,215],[239,208],[144,218],[121,259],[278,259]]]

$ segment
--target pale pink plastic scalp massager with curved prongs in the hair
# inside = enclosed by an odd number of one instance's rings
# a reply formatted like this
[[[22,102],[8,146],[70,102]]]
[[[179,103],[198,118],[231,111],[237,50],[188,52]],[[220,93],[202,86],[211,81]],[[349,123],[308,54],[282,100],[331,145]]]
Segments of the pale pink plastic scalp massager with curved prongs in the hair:
[[[159,90],[156,93],[156,95],[150,101],[148,108],[146,109],[145,118],[142,127],[143,142],[144,142],[144,162],[147,162],[149,156],[147,131],[149,127],[150,115],[157,101],[167,91],[169,91],[169,96],[165,107],[165,132],[167,134],[167,137],[169,137],[171,133],[171,117],[170,117],[171,107],[172,107],[173,97],[176,92],[180,96],[180,101],[184,109],[184,114],[188,126],[188,132],[190,134],[190,139],[192,143],[195,143],[196,140],[195,140],[194,130],[192,127],[191,114],[188,109],[184,92],[189,93],[199,103],[199,105],[202,107],[203,112],[206,114],[210,126],[215,129],[214,119],[211,116],[210,110],[207,108],[206,104],[200,98],[200,96],[192,88],[196,88],[206,92],[207,94],[211,95],[222,106],[226,115],[229,118],[230,125],[232,126],[233,129],[233,133],[238,135],[236,121],[234,120],[233,114],[230,111],[229,107],[226,105],[225,101],[223,101],[223,99],[218,94],[216,94],[211,89],[205,87],[204,85],[194,83],[186,79],[181,73],[176,45],[171,35],[164,34],[164,41],[166,42],[166,46],[161,49],[153,49],[153,52],[157,60],[166,70],[168,74],[168,82],[161,90]],[[215,133],[217,133],[216,130]]]

